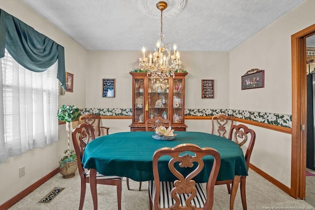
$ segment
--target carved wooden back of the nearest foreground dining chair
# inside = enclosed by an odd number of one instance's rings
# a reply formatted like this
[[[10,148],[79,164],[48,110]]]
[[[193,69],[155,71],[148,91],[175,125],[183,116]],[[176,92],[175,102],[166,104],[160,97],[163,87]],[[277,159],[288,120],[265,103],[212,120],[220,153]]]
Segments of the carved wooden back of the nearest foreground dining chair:
[[[186,151],[190,151],[194,153],[194,155],[190,155]],[[186,153],[184,155],[184,152]],[[221,156],[220,153],[212,148],[200,148],[197,145],[194,144],[181,144],[178,145],[174,148],[161,148],[159,150],[156,150],[156,152],[153,155],[153,175],[154,175],[154,183],[155,183],[155,193],[154,193],[154,209],[159,210],[160,204],[159,204],[159,199],[160,199],[160,193],[165,193],[165,192],[160,192],[161,187],[160,187],[160,177],[159,177],[159,172],[158,172],[158,159],[164,155],[169,155],[171,156],[171,160],[168,163],[168,168],[171,171],[171,173],[177,178],[173,182],[173,188],[169,189],[171,190],[170,192],[167,192],[167,194],[171,195],[171,198],[174,201],[174,205],[170,206],[169,208],[163,208],[165,209],[187,209],[187,210],[211,210],[213,207],[213,201],[214,201],[214,186],[215,182],[217,180],[218,174],[219,174],[219,169],[221,165]],[[194,180],[192,180],[195,176],[197,176],[202,169],[204,168],[204,162],[202,160],[202,157],[205,155],[212,155],[214,157],[214,162],[212,166],[212,170],[209,174],[209,179],[207,182],[207,187],[206,187],[206,202],[204,203],[203,208],[195,208],[193,205],[193,202],[191,202],[199,193],[196,189],[196,183]],[[189,175],[184,176],[181,174],[175,166],[180,166],[181,168],[190,168],[191,171]],[[196,166],[196,167],[195,167]],[[162,184],[163,186],[163,184]],[[199,185],[198,185],[199,186]],[[189,195],[185,200],[186,207],[181,206],[181,201],[178,195],[183,195],[183,194]],[[200,194],[198,194],[200,196]],[[198,197],[197,196],[197,197]],[[186,197],[186,196],[184,196]],[[152,196],[153,198],[153,196]],[[183,201],[184,202],[184,201]],[[152,204],[150,204],[152,205]],[[171,205],[171,204],[170,204]],[[181,206],[181,207],[180,207]]]

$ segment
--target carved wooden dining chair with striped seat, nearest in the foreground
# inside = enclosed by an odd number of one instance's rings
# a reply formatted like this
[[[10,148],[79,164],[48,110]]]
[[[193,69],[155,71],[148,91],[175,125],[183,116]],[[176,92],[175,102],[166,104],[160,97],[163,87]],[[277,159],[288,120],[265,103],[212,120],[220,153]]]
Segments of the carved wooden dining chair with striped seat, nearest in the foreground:
[[[193,152],[190,156],[187,151]],[[183,155],[185,152],[185,155]],[[181,154],[182,153],[182,154]],[[168,169],[177,177],[174,182],[161,181],[158,171],[158,159],[164,155],[171,156]],[[209,174],[206,191],[201,183],[192,180],[204,168],[202,157],[212,155],[214,162]],[[190,168],[186,177],[178,172],[175,166]],[[193,167],[196,165],[196,167]],[[149,181],[150,210],[211,210],[214,202],[214,186],[221,165],[220,153],[212,148],[200,148],[194,144],[181,144],[174,148],[161,148],[153,155],[154,180]],[[186,173],[186,172],[185,172]]]

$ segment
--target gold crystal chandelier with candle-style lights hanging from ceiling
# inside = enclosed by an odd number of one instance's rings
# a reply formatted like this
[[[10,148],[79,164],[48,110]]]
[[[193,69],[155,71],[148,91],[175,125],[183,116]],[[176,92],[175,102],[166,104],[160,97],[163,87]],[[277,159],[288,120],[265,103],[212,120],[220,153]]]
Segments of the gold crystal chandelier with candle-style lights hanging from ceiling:
[[[173,55],[171,55],[170,43],[165,46],[163,44],[163,40],[165,40],[163,35],[163,10],[166,9],[167,3],[159,1],[157,7],[161,11],[161,33],[153,55],[150,53],[149,58],[146,58],[146,49],[145,47],[142,48],[143,58],[139,58],[139,66],[141,66],[141,70],[147,70],[147,76],[151,74],[151,79],[159,77],[160,80],[163,80],[164,77],[175,77],[174,73],[181,67],[182,61],[178,50],[176,51],[175,44],[173,45]]]

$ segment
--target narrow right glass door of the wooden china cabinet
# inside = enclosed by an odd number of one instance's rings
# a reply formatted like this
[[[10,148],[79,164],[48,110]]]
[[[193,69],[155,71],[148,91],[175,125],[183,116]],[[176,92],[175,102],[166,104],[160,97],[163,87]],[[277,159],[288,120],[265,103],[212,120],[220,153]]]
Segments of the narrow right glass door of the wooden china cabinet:
[[[183,79],[174,79],[173,84],[173,123],[183,122]]]

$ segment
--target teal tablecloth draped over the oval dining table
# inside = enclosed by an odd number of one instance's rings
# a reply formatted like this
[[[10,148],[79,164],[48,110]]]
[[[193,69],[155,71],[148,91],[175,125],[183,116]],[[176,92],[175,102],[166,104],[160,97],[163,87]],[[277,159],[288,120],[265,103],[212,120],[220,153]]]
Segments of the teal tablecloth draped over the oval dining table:
[[[163,141],[152,138],[154,132],[122,132],[102,136],[90,142],[84,152],[82,163],[84,168],[94,168],[100,174],[128,177],[136,181],[153,179],[152,158],[159,148],[175,147],[179,144],[191,143],[199,147],[211,147],[221,155],[221,167],[217,180],[231,180],[235,175],[247,176],[244,153],[234,142],[216,135],[202,132],[175,131],[174,140]],[[168,172],[166,156],[160,159],[161,181],[173,181],[175,177]],[[207,182],[213,163],[213,157],[204,159],[205,168],[194,180]],[[208,164],[207,164],[208,163]]]

